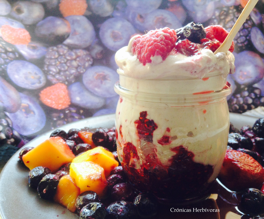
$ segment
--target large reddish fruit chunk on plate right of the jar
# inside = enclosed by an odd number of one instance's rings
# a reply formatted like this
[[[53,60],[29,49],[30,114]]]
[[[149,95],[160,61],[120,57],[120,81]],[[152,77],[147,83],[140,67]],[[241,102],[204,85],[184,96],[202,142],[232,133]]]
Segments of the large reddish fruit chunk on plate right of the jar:
[[[250,155],[229,149],[218,178],[232,191],[260,188],[264,182],[264,169]]]

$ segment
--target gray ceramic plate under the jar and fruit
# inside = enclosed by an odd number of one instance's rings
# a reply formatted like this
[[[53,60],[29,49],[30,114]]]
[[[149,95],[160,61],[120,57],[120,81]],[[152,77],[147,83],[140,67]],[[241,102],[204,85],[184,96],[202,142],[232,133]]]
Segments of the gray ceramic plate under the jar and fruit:
[[[253,125],[256,117],[230,114],[231,122],[241,128]],[[115,125],[115,116],[103,115],[80,120],[61,127],[65,131],[71,128],[111,128]],[[25,146],[36,146],[49,138],[52,131],[30,141]],[[20,151],[20,150],[19,150]],[[37,192],[28,186],[28,169],[18,163],[19,151],[7,162],[0,174],[0,218],[1,219],[74,219],[79,218],[66,208],[40,199]]]

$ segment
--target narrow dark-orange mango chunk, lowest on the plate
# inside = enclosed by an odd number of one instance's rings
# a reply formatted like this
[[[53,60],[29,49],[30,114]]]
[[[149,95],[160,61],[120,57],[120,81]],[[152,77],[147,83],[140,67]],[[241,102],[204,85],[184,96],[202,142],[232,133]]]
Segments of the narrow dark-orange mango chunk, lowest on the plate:
[[[65,206],[69,211],[75,212],[75,202],[80,195],[80,188],[76,186],[70,175],[60,178],[54,201]]]

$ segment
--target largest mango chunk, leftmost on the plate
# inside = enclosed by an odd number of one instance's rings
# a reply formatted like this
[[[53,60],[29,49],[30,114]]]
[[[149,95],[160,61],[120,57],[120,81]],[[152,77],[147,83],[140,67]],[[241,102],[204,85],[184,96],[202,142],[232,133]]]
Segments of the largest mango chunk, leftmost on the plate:
[[[71,162],[73,158],[75,155],[65,140],[61,137],[50,137],[23,155],[22,160],[30,170],[37,166],[45,166],[51,172],[56,172],[60,166]]]

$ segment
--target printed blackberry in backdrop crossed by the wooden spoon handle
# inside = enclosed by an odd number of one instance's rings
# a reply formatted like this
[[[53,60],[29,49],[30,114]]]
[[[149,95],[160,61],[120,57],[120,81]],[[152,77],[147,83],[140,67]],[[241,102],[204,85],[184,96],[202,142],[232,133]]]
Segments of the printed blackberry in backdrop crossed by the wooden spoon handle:
[[[227,31],[230,31],[236,23],[236,20],[241,14],[242,10],[243,8],[241,6],[216,8],[215,13],[212,16],[211,23],[215,25],[219,24]],[[234,38],[236,53],[239,53],[244,50],[250,50],[252,48],[250,32],[251,28],[254,26],[255,24],[251,16],[248,16],[243,26],[240,28]]]

